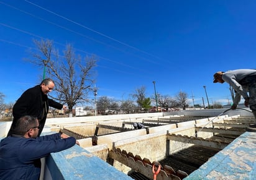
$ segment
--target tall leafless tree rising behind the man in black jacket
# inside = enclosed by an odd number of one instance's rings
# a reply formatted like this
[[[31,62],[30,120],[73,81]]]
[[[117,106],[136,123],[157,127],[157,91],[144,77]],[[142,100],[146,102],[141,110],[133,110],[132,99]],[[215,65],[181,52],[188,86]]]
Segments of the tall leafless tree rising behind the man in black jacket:
[[[71,45],[66,45],[63,56],[53,48],[51,40],[34,40],[40,53],[32,53],[35,60],[30,62],[47,68],[47,76],[54,80],[55,91],[51,96],[54,100],[67,103],[71,112],[77,103],[88,101],[88,92],[93,84],[91,78],[93,67],[96,66],[95,56],[81,58],[75,54]]]

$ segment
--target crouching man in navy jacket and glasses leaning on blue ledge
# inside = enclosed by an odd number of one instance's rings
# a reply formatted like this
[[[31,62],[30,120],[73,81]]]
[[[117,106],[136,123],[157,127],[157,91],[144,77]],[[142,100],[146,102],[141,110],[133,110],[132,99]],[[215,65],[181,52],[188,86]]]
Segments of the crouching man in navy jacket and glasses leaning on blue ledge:
[[[39,179],[40,158],[76,144],[74,137],[60,133],[38,137],[39,129],[33,116],[17,119],[13,134],[0,142],[0,179]]]

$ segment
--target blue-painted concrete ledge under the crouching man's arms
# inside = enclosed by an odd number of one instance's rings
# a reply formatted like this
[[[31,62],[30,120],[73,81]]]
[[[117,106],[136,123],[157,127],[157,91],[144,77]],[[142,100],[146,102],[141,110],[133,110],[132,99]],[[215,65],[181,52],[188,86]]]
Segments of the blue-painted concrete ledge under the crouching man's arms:
[[[53,179],[132,179],[78,145],[52,153],[46,161]]]

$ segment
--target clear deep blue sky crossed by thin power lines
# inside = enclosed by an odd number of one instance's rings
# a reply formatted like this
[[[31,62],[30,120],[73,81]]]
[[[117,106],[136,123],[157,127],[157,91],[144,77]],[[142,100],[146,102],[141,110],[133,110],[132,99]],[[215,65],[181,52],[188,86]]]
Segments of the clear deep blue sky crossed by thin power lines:
[[[99,57],[98,96],[126,100],[145,86],[194,96],[195,104],[231,101],[216,71],[256,68],[256,1],[0,0],[0,92],[15,102],[39,84],[43,69],[25,61],[33,39],[66,43]],[[87,54],[86,54],[87,53]],[[93,98],[91,93],[90,98]],[[190,101],[190,105],[193,102]]]

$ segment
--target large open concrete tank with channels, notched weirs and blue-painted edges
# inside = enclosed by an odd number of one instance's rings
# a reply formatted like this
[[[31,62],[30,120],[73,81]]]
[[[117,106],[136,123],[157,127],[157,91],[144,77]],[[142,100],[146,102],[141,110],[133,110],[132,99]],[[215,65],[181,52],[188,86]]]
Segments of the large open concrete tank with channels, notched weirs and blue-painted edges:
[[[127,174],[134,172],[153,179],[152,168],[157,166],[158,161],[193,147],[194,144],[216,149],[219,153],[189,176],[180,169],[163,166],[157,179],[204,179],[208,175],[209,179],[217,179],[226,176],[227,172],[237,176],[234,169],[229,171],[228,167],[230,164],[239,167],[240,163],[247,163],[247,170],[243,171],[244,175],[237,177],[254,177],[252,173],[255,173],[256,167],[253,161],[237,161],[232,158],[243,150],[244,157],[250,155],[252,160],[255,160],[255,146],[250,139],[254,132],[244,131],[253,121],[249,109],[203,109],[47,119],[44,134],[61,129],[66,134],[78,138],[80,147],[75,145],[69,150],[48,156],[45,159],[42,179],[132,179],[132,176]],[[133,122],[143,122],[145,129],[132,129]],[[1,138],[7,134],[10,126],[11,122],[1,122]],[[240,129],[234,130],[238,127]],[[227,137],[221,140],[211,139],[225,133],[237,139],[234,142],[228,141]],[[241,139],[242,142],[250,142],[246,148],[238,146]],[[234,155],[224,161],[224,155],[228,156],[226,152],[234,152]],[[218,172],[214,172],[211,166],[217,160],[219,164],[226,165],[226,171],[221,171],[220,168]],[[66,168],[67,166],[69,168]]]

